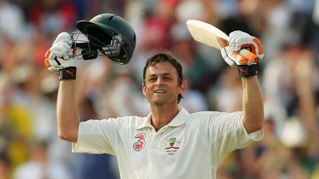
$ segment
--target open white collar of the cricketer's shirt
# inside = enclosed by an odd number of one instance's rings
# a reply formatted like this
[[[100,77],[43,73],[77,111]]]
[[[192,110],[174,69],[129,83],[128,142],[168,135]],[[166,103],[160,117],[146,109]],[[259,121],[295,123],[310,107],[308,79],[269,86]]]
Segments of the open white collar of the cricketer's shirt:
[[[186,119],[188,119],[188,115],[189,115],[188,111],[184,107],[179,107],[178,109],[179,109],[179,112],[177,113],[177,115],[166,126],[177,127],[182,125],[186,121]],[[149,113],[146,119],[137,125],[136,129],[151,127],[151,124],[150,124],[151,118],[152,118],[152,113]]]

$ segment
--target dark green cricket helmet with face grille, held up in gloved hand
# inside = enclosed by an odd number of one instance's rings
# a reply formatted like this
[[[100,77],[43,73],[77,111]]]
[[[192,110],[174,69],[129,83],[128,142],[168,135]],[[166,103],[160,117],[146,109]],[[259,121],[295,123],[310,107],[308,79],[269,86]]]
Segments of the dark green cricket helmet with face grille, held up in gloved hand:
[[[84,59],[96,58],[98,50],[118,64],[127,64],[130,61],[136,36],[132,26],[123,18],[115,14],[100,14],[90,21],[78,21],[76,26],[88,39],[88,48],[82,51]],[[110,45],[114,41],[117,44]],[[117,51],[108,52],[110,48],[117,48]],[[93,54],[93,57],[85,57],[85,53]]]

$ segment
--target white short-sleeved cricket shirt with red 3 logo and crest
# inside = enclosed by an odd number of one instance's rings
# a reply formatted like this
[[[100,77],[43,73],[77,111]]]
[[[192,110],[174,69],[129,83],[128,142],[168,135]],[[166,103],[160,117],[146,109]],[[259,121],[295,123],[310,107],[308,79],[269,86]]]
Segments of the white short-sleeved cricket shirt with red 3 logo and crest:
[[[151,114],[81,122],[72,152],[116,155],[122,179],[215,179],[225,154],[263,136],[262,129],[247,134],[242,111],[179,110],[157,132]]]

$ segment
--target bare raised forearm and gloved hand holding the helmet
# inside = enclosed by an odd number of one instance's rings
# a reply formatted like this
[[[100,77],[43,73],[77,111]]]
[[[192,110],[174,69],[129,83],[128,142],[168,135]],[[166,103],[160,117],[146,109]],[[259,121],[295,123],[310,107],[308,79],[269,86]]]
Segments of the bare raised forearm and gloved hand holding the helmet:
[[[77,142],[79,112],[75,102],[74,79],[79,50],[71,49],[71,36],[66,32],[58,35],[53,46],[45,54],[45,64],[52,73],[59,73],[57,120],[58,137]]]

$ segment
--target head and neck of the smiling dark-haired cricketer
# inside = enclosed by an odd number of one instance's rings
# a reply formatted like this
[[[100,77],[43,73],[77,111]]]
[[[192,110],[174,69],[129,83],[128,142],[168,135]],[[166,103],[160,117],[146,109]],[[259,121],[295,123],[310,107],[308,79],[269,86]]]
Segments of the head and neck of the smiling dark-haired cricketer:
[[[143,71],[143,94],[152,111],[151,125],[159,130],[169,124],[179,112],[177,103],[187,83],[181,65],[168,53],[155,54],[146,62]]]

